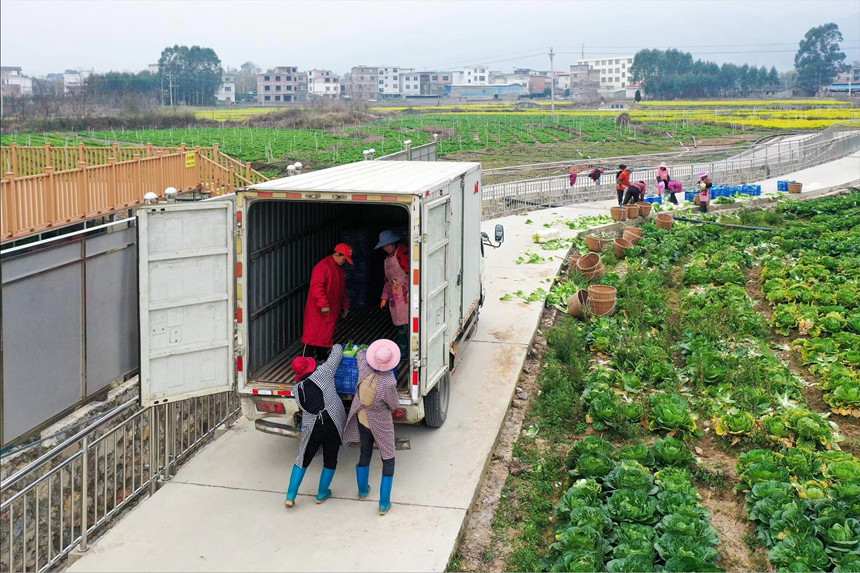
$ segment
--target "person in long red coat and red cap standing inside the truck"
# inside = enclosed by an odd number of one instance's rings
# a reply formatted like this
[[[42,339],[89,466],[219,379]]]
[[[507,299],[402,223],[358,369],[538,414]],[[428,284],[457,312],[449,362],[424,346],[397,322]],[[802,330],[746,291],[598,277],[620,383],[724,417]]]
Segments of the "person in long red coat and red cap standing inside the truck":
[[[337,319],[349,313],[343,264],[352,264],[352,247],[335,246],[334,252],[318,262],[311,272],[311,286],[305,303],[302,356],[325,361],[334,344]]]

